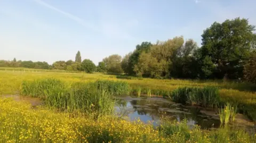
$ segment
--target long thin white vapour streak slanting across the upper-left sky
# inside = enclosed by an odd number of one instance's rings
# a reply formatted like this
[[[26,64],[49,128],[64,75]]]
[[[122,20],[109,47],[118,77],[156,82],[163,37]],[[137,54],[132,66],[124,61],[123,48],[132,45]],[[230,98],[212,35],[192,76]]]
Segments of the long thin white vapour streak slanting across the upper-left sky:
[[[92,24],[90,22],[86,22],[84,19],[79,18],[76,15],[73,15],[71,13],[62,11],[62,10],[58,9],[57,7],[52,6],[52,5],[48,4],[48,3],[45,3],[44,1],[41,1],[41,0],[33,0],[33,1],[35,1],[36,3],[38,3],[40,5],[43,5],[43,6],[47,7],[47,8],[49,8],[49,9],[51,9],[51,10],[57,11],[57,12],[65,15],[65,16],[67,16],[69,19],[76,21],[77,23],[81,24],[82,26],[84,26],[86,28],[89,28],[89,29],[92,29],[92,30],[95,30],[95,31],[99,31],[99,28],[94,26],[94,24]]]

